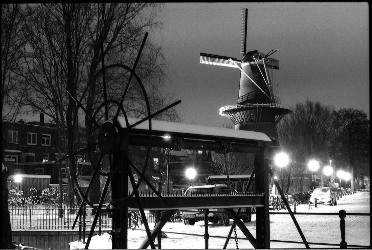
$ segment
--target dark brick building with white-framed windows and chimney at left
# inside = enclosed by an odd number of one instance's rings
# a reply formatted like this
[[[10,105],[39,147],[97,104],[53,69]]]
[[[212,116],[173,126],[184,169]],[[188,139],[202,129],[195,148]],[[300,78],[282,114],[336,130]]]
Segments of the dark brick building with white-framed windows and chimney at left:
[[[58,183],[58,166],[55,164],[58,159],[56,124],[44,122],[44,114],[41,113],[39,122],[3,122],[2,128],[3,135],[7,137],[4,158],[10,176],[50,175],[50,182]]]

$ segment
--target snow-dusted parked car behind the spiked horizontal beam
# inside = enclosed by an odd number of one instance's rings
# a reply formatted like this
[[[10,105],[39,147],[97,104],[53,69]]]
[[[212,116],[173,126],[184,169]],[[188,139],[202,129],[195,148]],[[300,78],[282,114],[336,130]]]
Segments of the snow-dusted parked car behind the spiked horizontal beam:
[[[230,194],[236,192],[233,188],[228,188],[227,185],[203,185],[191,186],[186,189],[185,195],[204,195],[204,194]],[[203,209],[182,211],[183,223],[185,225],[194,225],[196,221],[204,220]],[[238,208],[234,208],[237,212]],[[239,218],[243,222],[250,222],[252,219],[251,208],[242,208],[239,213]],[[230,224],[230,217],[224,208],[211,208],[208,213],[208,221],[218,223],[219,225],[227,226]]]

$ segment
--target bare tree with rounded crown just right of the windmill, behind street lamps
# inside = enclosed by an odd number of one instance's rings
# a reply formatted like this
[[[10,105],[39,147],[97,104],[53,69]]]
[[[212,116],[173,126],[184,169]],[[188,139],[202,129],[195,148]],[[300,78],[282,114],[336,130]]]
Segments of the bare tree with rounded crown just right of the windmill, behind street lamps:
[[[323,162],[328,161],[328,148],[335,135],[334,118],[333,107],[306,100],[305,103],[297,103],[292,113],[279,122],[279,142],[291,156],[291,163],[284,170],[287,177],[287,192],[291,185],[294,166],[302,190],[308,160],[316,158]]]

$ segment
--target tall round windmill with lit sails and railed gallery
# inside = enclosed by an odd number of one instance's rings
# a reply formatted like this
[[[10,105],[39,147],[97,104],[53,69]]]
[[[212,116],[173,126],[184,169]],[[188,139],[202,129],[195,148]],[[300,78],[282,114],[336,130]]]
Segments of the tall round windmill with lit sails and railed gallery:
[[[263,54],[257,50],[246,52],[247,13],[241,8],[241,60],[221,55],[200,53],[200,63],[240,69],[238,103],[224,106],[219,114],[227,116],[235,129],[263,132],[278,140],[276,124],[290,109],[280,108],[279,98],[274,96],[270,71],[279,69],[279,60],[268,58],[276,51]],[[273,51],[273,52],[272,52]]]

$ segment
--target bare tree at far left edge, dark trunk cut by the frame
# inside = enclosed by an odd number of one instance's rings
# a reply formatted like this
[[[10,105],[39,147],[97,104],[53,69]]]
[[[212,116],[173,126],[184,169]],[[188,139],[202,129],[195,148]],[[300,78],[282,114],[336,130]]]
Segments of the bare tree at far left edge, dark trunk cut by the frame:
[[[20,111],[25,91],[20,88],[19,70],[22,65],[20,48],[24,45],[19,4],[1,4],[1,121],[14,122]],[[6,130],[5,130],[6,131]],[[4,162],[7,135],[1,143],[1,249],[14,249],[10,225],[7,189],[9,171]]]

